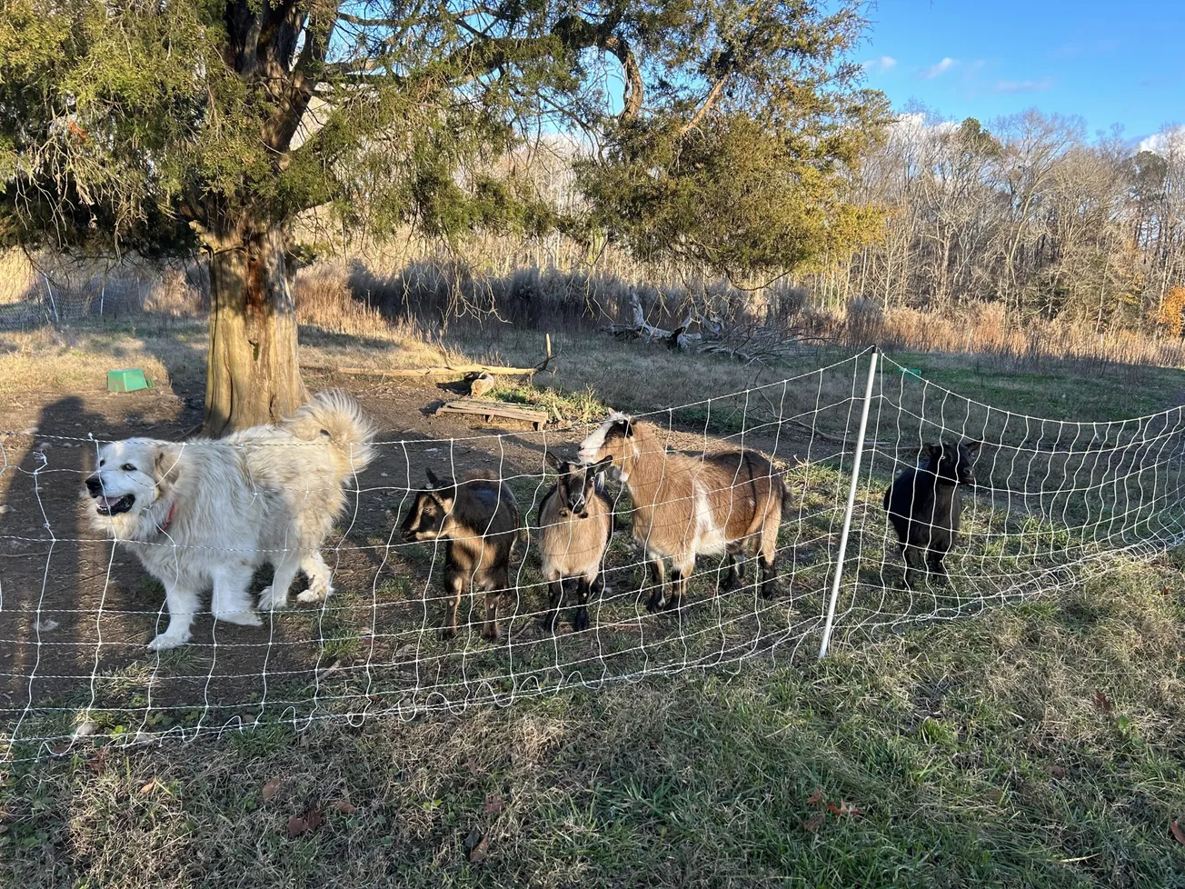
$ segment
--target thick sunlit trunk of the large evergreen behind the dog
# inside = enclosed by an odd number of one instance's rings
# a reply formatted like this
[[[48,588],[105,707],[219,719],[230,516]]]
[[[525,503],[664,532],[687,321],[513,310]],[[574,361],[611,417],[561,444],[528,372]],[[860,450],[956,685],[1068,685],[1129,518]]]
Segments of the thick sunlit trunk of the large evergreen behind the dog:
[[[265,225],[244,225],[207,239],[211,305],[204,435],[275,423],[307,399],[286,245],[283,231]]]

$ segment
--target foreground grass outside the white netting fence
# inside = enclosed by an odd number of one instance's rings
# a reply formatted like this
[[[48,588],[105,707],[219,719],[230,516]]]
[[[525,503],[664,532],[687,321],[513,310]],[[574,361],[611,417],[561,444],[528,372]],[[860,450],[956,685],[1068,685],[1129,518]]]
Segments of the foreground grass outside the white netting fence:
[[[1183,885],[1183,595],[1132,568],[821,663],[18,763],[0,850],[28,887]]]

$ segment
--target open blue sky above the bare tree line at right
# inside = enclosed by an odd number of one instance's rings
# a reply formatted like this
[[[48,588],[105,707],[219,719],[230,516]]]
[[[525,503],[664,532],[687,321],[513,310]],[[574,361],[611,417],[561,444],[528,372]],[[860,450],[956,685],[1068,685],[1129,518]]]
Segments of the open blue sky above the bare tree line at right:
[[[858,58],[897,109],[1081,115],[1132,142],[1185,124],[1185,0],[879,0]]]

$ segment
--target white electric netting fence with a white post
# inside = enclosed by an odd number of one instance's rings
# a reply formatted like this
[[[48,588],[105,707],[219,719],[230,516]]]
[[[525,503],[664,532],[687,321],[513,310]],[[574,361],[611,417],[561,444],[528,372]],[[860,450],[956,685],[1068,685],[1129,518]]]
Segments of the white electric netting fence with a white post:
[[[337,593],[301,607],[297,581],[293,606],[261,612],[262,627],[214,622],[207,596],[192,641],[160,653],[146,644],[167,621],[162,588],[82,514],[82,481],[101,442],[84,430],[5,433],[0,760],[63,754],[96,738],[410,718],[574,686],[736,670],[756,657],[815,657],[828,644],[1039,596],[1185,539],[1180,409],[1109,423],[1040,420],[971,401],[866,351],[643,418],[672,449],[751,448],[782,473],[775,597],[758,595],[752,558],[743,584],[725,593],[722,559],[703,556],[684,607],[647,612],[652,581],[629,533],[629,499],[610,477],[617,530],[603,559],[606,589],[589,603],[588,629],[572,631],[571,599],[552,629],[537,551],[538,507],[555,484],[544,454],[575,459],[589,429],[448,440],[383,430],[322,546]],[[963,493],[949,580],[909,589],[882,499],[922,446],[940,440],[984,442],[976,485]],[[480,594],[462,599],[454,639],[437,635],[443,544],[409,543],[399,532],[427,487],[425,468],[441,478],[492,471],[515,494],[526,527],[498,641],[481,637]],[[252,589],[267,582],[264,573]]]

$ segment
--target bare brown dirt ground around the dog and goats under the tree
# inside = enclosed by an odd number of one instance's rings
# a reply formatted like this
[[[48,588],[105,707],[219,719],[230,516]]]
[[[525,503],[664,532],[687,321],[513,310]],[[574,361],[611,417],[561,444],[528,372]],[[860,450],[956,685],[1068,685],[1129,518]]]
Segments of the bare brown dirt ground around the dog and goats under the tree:
[[[329,376],[308,382],[314,390],[352,389],[379,428],[378,458],[324,548],[338,594],[321,608],[265,618],[262,629],[214,625],[199,615],[193,642],[160,657],[145,645],[166,618],[162,589],[134,556],[90,530],[79,512],[81,482],[94,462],[90,436],[178,439],[200,420],[200,394],[161,389],[41,401],[26,394],[0,407],[8,430],[0,442],[0,503],[7,507],[0,514],[0,723],[11,728],[58,715],[63,724],[56,729],[26,724],[20,731],[47,737],[69,728],[79,708],[108,712],[103,729],[132,731],[193,725],[213,708],[305,714],[312,702],[315,714],[347,698],[385,706],[408,699],[438,703],[441,696],[497,697],[515,670],[536,677],[532,682],[582,669],[600,674],[607,658],[665,657],[666,646],[686,660],[697,634],[711,638],[705,657],[716,660],[737,645],[751,647],[752,632],[744,625],[757,613],[751,591],[737,594],[748,605],[736,621],[722,622],[718,608],[703,609],[703,625],[647,615],[638,603],[645,581],[632,570],[636,554],[628,532],[610,551],[610,591],[595,631],[571,634],[563,622],[562,641],[543,631],[537,616],[546,596],[531,552],[512,567],[518,589],[507,603],[507,642],[499,647],[478,637],[476,602],[463,606],[469,631],[451,644],[438,642],[435,569],[443,554],[405,544],[397,535],[409,490],[423,486],[429,466],[442,475],[494,469],[514,488],[524,516],[533,517],[550,484],[543,479],[545,449],[574,453],[585,428],[536,433],[514,421],[498,427],[480,417],[433,416],[431,408],[450,394],[430,383],[376,385]],[[747,433],[744,442],[767,453],[776,446],[775,456],[793,462],[808,437],[761,429]],[[673,428],[672,444],[688,450],[726,446],[687,428]],[[256,590],[267,581],[261,574]],[[777,620],[786,625],[788,602],[762,607],[779,609]]]

